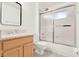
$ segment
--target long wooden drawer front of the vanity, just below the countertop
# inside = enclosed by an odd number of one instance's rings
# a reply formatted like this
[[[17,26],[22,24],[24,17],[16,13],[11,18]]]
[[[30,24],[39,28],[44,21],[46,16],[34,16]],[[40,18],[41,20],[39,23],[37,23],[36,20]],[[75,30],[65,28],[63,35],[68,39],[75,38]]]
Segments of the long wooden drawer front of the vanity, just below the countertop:
[[[3,42],[3,50],[11,49],[33,41],[33,37],[21,37]]]

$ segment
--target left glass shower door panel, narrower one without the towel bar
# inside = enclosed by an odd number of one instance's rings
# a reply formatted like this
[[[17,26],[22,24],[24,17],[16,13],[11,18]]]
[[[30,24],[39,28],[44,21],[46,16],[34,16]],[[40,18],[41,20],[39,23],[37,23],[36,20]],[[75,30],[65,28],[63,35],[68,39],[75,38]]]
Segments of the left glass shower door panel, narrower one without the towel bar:
[[[40,40],[53,42],[52,12],[48,12],[40,15]]]

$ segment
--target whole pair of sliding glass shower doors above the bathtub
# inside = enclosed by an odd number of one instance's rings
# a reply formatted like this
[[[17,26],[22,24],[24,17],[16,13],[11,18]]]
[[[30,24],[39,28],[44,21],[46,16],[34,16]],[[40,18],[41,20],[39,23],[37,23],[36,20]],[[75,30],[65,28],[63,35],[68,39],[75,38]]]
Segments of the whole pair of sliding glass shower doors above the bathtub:
[[[75,47],[75,6],[67,6],[40,15],[40,40]]]

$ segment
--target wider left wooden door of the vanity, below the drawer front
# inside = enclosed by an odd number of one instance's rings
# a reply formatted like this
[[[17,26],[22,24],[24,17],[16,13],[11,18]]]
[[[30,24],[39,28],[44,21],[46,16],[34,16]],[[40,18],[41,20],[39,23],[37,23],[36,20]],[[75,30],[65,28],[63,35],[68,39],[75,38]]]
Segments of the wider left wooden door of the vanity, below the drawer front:
[[[17,47],[11,50],[7,50],[3,53],[4,57],[22,57],[23,47]]]

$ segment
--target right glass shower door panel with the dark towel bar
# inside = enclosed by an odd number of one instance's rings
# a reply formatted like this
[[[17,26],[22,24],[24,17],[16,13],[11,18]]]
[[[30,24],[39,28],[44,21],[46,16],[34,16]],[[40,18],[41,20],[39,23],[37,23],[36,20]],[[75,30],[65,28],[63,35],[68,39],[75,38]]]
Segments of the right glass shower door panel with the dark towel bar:
[[[54,12],[54,43],[75,46],[75,6]]]

